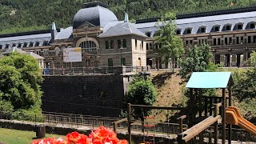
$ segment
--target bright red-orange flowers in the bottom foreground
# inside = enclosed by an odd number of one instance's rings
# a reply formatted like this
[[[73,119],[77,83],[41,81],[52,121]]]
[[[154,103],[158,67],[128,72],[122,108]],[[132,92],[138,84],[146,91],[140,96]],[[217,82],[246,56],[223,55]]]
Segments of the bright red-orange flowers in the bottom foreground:
[[[75,131],[67,134],[66,140],[45,138],[33,141],[31,144],[128,144],[128,142],[119,140],[113,130],[100,126],[98,129],[92,130],[89,136]]]

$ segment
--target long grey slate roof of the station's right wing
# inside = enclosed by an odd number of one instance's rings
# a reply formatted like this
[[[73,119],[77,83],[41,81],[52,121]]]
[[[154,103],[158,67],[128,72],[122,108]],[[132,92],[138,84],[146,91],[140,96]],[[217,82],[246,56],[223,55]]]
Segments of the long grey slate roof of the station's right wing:
[[[186,28],[192,28],[191,34],[198,34],[201,26],[206,26],[206,33],[213,32],[212,30],[214,26],[220,26],[220,31],[223,31],[225,30],[226,24],[231,24],[231,30],[236,30],[235,26],[239,22],[243,23],[242,30],[246,30],[248,29],[248,24],[250,24],[250,22],[256,22],[256,11],[199,18],[184,18],[177,19],[176,22],[178,29],[182,30],[181,34],[185,34],[184,32]],[[143,33],[150,31],[154,33],[154,31],[157,30],[155,23],[156,22],[138,23],[135,24],[135,27]]]

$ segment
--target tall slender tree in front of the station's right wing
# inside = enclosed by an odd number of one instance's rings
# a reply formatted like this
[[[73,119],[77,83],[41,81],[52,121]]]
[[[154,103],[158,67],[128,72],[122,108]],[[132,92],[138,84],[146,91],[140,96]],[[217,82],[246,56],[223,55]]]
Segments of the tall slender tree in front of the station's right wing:
[[[184,53],[184,46],[181,38],[176,35],[176,16],[172,13],[166,13],[161,18],[158,26],[158,36],[155,40],[161,44],[159,49],[155,49],[160,57],[172,60],[172,68],[174,72],[174,62]]]

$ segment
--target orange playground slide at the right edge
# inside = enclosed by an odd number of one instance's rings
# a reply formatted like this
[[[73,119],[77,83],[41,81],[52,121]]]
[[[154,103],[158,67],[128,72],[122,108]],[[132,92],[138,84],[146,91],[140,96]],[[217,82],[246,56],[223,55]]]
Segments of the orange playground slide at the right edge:
[[[248,122],[245,118],[242,118],[238,112],[238,109],[234,106],[229,106],[226,108],[226,123],[240,126],[250,134],[256,136],[256,126]]]

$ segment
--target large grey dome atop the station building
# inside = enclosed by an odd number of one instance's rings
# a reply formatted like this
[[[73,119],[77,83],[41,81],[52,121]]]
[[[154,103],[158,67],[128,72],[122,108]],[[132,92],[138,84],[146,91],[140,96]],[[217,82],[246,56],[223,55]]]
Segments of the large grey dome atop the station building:
[[[85,22],[104,27],[113,21],[118,21],[118,18],[109,9],[102,6],[85,7],[78,10],[78,13],[74,15],[73,28],[76,29]]]

